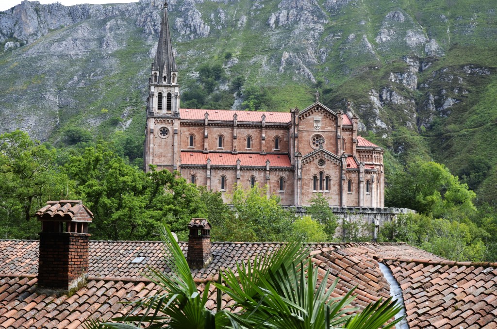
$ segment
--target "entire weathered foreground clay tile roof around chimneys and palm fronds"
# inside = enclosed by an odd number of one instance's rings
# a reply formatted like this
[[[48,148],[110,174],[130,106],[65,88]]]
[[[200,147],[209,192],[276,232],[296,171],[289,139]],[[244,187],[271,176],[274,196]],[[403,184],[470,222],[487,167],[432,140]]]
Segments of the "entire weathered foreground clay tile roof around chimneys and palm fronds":
[[[202,225],[195,219],[192,225]],[[184,253],[186,243],[179,243]],[[212,243],[212,262],[192,271],[198,289],[216,280],[221,269],[235,269],[255,255],[277,250],[279,243]],[[352,306],[390,296],[380,263],[387,265],[403,290],[410,328],[497,328],[497,263],[455,262],[404,243],[312,244],[311,254],[322,277],[338,277],[332,297],[353,287]],[[83,328],[90,318],[108,320],[127,314],[120,303],[161,292],[143,276],[153,267],[167,272],[162,243],[151,241],[90,241],[88,281],[71,297],[36,290],[38,241],[0,241],[0,328]],[[234,301],[222,296],[222,308]],[[216,307],[210,285],[209,309]]]

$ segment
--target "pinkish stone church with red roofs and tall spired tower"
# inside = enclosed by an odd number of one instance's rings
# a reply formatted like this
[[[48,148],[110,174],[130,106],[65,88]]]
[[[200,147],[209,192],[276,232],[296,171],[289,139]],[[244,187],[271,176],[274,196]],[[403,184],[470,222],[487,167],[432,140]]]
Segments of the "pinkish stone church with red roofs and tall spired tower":
[[[318,193],[332,207],[384,207],[383,149],[357,135],[350,106],[316,102],[289,112],[180,107],[167,5],[147,100],[144,167],[177,170],[188,182],[221,191],[266,186],[284,206]]]

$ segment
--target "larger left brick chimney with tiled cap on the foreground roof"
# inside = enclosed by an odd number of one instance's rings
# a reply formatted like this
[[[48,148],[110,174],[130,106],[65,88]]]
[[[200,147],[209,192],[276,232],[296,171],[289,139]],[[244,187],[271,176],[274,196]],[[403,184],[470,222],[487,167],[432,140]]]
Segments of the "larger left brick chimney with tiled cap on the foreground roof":
[[[70,290],[88,271],[88,224],[93,214],[79,200],[48,201],[41,221],[38,286]]]

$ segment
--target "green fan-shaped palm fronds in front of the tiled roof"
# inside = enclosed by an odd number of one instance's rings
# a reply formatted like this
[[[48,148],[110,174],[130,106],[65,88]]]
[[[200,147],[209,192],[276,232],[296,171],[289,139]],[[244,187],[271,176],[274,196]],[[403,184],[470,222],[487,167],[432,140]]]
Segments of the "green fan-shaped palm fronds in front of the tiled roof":
[[[401,309],[391,303],[378,301],[367,306],[361,313],[347,307],[354,297],[353,288],[343,297],[331,298],[338,282],[327,287],[330,273],[324,275],[314,268],[307,257],[308,247],[299,242],[283,245],[269,255],[258,254],[253,264],[242,264],[237,271],[225,270],[220,280],[214,283],[218,303],[216,312],[205,308],[209,287],[208,281],[203,292],[197,285],[188,263],[171,233],[163,229],[163,242],[167,254],[165,261],[168,273],[151,270],[151,280],[162,287],[164,292],[144,297],[136,301],[130,315],[115,321],[138,322],[138,326],[94,322],[87,329],[96,328],[348,328],[376,329],[394,328],[402,318],[389,324]],[[304,275],[307,273],[307,275]],[[318,279],[318,278],[321,279]],[[222,284],[225,282],[225,284]],[[229,295],[235,302],[237,313],[221,310],[222,294]],[[141,309],[152,310],[152,315],[134,316]],[[148,313],[148,312],[147,312]],[[149,313],[151,314],[151,313]]]

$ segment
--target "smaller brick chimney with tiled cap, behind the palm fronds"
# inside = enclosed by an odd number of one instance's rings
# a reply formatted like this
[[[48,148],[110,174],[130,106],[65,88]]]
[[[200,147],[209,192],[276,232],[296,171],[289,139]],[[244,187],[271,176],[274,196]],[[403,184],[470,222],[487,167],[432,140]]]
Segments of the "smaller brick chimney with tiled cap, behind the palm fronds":
[[[193,218],[188,224],[188,253],[190,269],[205,268],[212,261],[211,226],[203,218]]]

